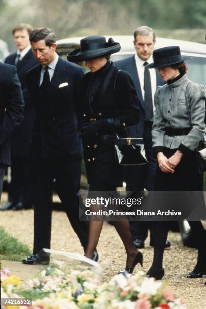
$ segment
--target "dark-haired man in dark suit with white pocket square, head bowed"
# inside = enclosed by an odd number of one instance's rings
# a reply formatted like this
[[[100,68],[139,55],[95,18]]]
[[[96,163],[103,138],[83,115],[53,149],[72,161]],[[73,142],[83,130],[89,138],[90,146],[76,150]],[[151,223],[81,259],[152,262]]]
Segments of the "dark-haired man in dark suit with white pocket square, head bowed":
[[[56,38],[48,28],[34,29],[30,42],[39,64],[26,75],[36,120],[32,136],[34,177],[34,248],[25,264],[48,263],[42,248],[50,248],[52,231],[52,185],[66,208],[67,216],[83,246],[87,223],[79,221],[79,188],[82,143],[77,131],[76,101],[83,69],[59,57]]]

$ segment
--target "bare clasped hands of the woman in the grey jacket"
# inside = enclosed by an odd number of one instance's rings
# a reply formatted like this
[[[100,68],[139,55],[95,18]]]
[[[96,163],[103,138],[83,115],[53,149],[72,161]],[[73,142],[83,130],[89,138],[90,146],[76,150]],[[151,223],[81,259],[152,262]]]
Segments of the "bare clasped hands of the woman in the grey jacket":
[[[174,155],[167,158],[162,152],[157,155],[158,165],[164,173],[174,173],[176,166],[180,163],[183,154],[180,151],[176,151]]]

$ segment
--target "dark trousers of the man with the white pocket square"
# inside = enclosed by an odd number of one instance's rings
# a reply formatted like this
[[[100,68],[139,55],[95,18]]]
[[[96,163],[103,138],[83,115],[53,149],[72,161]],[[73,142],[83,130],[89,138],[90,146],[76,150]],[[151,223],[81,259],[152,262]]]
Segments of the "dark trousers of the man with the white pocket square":
[[[42,248],[50,248],[54,179],[72,228],[82,246],[86,248],[87,222],[79,221],[81,162],[81,159],[59,163],[43,159],[34,161],[34,254]]]

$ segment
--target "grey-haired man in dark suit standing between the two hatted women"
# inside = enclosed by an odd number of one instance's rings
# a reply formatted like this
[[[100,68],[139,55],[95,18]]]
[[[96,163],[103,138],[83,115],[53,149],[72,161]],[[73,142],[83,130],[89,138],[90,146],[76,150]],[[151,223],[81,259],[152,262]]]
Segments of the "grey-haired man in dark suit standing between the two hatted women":
[[[144,189],[153,190],[157,160],[152,149],[152,125],[154,96],[156,87],[163,85],[158,70],[145,69],[144,66],[153,62],[152,52],[155,47],[155,32],[147,26],[141,26],[134,31],[134,48],[136,54],[115,62],[122,70],[129,72],[134,81],[137,97],[140,102],[140,121],[128,128],[129,137],[143,137],[144,149],[148,163],[146,166],[130,166],[125,169],[126,189],[135,191],[141,197]],[[130,229],[137,248],[144,248],[144,241],[148,234],[147,222],[130,222]],[[151,233],[152,234],[152,233]],[[152,245],[152,237],[150,241]],[[167,241],[166,246],[170,246]]]

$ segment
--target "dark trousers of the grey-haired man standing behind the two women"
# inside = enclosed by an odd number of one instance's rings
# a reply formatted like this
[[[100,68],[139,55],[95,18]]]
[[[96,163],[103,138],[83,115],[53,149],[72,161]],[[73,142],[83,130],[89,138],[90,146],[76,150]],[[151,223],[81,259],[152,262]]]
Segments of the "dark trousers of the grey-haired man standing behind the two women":
[[[153,122],[145,121],[143,139],[144,139],[144,149],[148,163],[142,166],[130,166],[127,167],[126,171],[126,190],[135,191],[135,194],[138,194],[139,191],[142,191],[146,188],[149,191],[152,191],[154,188],[155,182],[155,170],[157,166],[157,160],[153,156],[152,148],[152,125]],[[141,193],[139,192],[140,196]],[[145,240],[148,235],[149,222],[135,221],[129,222],[130,230],[132,233],[133,240],[141,239]],[[152,238],[152,230],[151,230]]]

